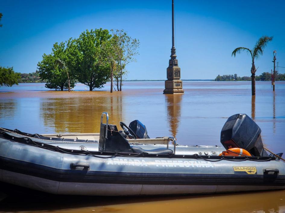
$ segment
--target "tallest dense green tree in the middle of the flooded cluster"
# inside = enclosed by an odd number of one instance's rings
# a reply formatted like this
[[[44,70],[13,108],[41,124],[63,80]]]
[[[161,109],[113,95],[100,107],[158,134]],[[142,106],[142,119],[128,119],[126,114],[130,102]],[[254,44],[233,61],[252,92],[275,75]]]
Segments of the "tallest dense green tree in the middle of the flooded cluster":
[[[76,78],[92,91],[102,88],[109,79],[109,63],[103,53],[102,43],[111,38],[106,29],[86,30],[70,42],[69,55],[74,58],[72,69]]]

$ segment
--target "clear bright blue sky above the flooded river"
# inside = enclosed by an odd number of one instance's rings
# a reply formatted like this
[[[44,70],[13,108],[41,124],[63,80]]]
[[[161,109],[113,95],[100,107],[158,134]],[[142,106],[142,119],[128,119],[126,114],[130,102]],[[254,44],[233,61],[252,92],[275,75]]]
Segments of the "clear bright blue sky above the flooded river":
[[[4,1],[0,66],[34,72],[55,42],[77,38],[86,29],[124,29],[140,40],[137,62],[127,79],[166,79],[171,49],[171,0],[163,1]],[[258,59],[257,75],[277,62],[285,67],[285,1],[175,0],[176,54],[182,79],[214,79],[218,74],[250,76],[246,53],[262,35],[274,36]],[[285,69],[280,68],[280,73]]]

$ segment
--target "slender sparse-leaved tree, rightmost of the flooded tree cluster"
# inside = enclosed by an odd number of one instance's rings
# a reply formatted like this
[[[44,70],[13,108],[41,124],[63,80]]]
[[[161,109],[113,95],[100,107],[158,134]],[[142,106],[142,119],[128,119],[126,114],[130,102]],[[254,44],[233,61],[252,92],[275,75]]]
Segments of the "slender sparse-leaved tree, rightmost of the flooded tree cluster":
[[[138,48],[140,41],[138,39],[133,39],[124,30],[111,30],[113,34],[113,39],[116,42],[117,48],[114,49],[117,55],[117,75],[115,78],[117,80],[117,89],[122,91],[122,79],[123,75],[126,75],[127,71],[125,67],[130,62],[136,62],[135,55],[138,53]],[[119,89],[120,80],[120,89]]]

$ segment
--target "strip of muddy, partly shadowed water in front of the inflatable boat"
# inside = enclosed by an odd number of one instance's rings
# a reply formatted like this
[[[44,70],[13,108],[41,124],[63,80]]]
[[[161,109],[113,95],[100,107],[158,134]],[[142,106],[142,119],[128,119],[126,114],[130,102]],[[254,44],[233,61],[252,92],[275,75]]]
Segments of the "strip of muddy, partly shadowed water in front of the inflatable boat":
[[[204,196],[9,196],[0,211],[51,212],[284,212],[285,191]],[[30,202],[30,201],[33,202]],[[14,205],[17,203],[17,205]],[[207,205],[205,205],[207,204]]]

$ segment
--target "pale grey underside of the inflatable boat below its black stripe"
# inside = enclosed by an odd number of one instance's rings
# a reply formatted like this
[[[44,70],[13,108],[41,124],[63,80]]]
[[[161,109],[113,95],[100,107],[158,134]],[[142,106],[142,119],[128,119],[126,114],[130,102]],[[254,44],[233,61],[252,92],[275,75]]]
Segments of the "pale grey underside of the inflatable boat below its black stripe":
[[[77,183],[53,181],[45,178],[24,175],[6,170],[1,171],[3,181],[52,194],[89,196],[130,196],[130,195],[171,195],[171,194],[209,194],[225,192],[245,192],[284,189],[284,186],[249,185],[158,185],[158,184],[108,184]]]

